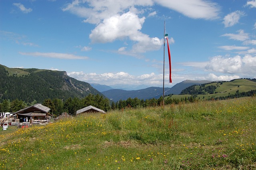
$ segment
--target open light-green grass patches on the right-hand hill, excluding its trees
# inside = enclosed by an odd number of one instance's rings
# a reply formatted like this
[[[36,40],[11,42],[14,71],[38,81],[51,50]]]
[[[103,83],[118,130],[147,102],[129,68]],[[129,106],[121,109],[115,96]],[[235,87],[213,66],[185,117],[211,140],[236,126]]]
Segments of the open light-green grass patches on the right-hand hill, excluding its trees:
[[[206,86],[209,85],[215,85],[217,86],[217,83],[210,83],[207,84]],[[239,87],[238,87],[239,85]],[[199,86],[196,86],[196,88],[199,89]],[[234,81],[229,81],[229,82],[224,82],[222,85],[220,85],[220,83],[218,83],[218,87],[215,90],[218,93],[215,94],[207,94],[207,95],[198,95],[196,97],[196,99],[200,99],[202,100],[204,99],[208,99],[211,97],[221,97],[221,96],[228,96],[229,94],[235,94],[236,91],[238,90],[239,92],[247,92],[250,90],[255,90],[256,89],[256,82],[254,81],[250,81],[248,79],[236,79]],[[220,93],[221,92],[221,93]],[[172,99],[181,99],[181,98],[185,98],[185,97],[190,97],[191,95],[172,95]]]

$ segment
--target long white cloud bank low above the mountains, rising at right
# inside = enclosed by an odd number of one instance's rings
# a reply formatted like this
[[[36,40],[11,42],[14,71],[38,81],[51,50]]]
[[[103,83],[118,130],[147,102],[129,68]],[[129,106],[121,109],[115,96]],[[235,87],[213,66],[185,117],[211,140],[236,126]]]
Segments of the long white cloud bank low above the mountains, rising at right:
[[[166,84],[174,85],[175,83],[180,83],[185,79],[191,80],[223,80],[230,81],[232,79],[238,79],[240,77],[248,77],[248,75],[256,75],[256,56],[253,55],[245,55],[244,57],[240,57],[239,55],[235,57],[222,57],[216,56],[210,59],[208,63],[206,62],[188,62],[182,63],[186,66],[196,67],[199,70],[204,70],[203,74],[198,74],[196,71],[186,73],[184,75],[177,74],[176,70],[173,70],[172,79],[173,83],[167,83],[169,79],[168,71],[165,75]],[[204,66],[204,67],[202,67]],[[210,73],[207,73],[207,72]],[[214,73],[212,73],[214,72]],[[147,85],[154,87],[162,87],[163,75],[162,74],[142,74],[142,75],[130,75],[126,72],[118,72],[118,73],[84,73],[80,72],[71,72],[68,73],[70,77],[74,77],[80,81],[90,82],[90,83],[100,83],[104,85]],[[252,78],[252,77],[248,77]],[[175,82],[174,82],[175,81]]]

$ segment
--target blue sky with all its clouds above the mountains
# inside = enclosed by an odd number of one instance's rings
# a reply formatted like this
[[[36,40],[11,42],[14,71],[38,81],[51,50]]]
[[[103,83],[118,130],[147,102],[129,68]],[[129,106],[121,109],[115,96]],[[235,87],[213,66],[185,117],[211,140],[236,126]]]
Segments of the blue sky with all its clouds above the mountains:
[[[0,64],[130,89],[256,78],[256,0],[0,0]]]

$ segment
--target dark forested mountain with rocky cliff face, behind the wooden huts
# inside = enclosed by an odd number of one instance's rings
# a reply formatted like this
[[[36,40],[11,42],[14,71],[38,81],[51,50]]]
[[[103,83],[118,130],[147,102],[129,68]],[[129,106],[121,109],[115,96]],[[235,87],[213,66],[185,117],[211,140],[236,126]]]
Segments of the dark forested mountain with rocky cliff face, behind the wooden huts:
[[[18,99],[42,103],[44,99],[82,99],[89,94],[102,95],[89,83],[69,77],[66,71],[12,69],[0,65],[0,102]]]

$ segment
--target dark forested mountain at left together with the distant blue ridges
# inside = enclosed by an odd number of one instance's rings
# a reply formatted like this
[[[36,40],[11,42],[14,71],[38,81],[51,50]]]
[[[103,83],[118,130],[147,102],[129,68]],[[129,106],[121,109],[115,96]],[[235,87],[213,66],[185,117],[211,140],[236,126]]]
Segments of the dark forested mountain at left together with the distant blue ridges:
[[[212,81],[185,80],[173,87],[164,88],[164,95],[179,95],[183,89],[192,85],[201,85]],[[8,68],[0,65],[0,102],[19,99],[28,103],[44,99],[62,99],[69,97],[83,98],[89,94],[102,95],[111,101],[127,100],[128,98],[158,99],[163,95],[162,87],[148,87],[139,90],[114,89],[107,85],[86,83],[69,77],[66,71],[46,69]]]

